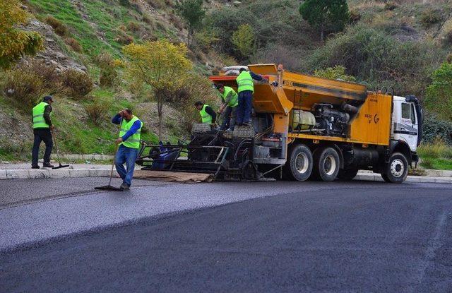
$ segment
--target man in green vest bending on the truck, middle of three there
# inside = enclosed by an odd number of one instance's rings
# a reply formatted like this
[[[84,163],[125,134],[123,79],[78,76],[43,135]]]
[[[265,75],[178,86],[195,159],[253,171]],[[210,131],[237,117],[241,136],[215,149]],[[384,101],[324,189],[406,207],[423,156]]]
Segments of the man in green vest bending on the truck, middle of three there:
[[[222,104],[220,106],[220,110],[218,111],[222,114],[220,130],[224,131],[229,126],[227,131],[234,131],[237,106],[239,105],[239,96],[233,88],[224,86],[221,83],[219,83],[216,88],[220,92],[222,99]]]

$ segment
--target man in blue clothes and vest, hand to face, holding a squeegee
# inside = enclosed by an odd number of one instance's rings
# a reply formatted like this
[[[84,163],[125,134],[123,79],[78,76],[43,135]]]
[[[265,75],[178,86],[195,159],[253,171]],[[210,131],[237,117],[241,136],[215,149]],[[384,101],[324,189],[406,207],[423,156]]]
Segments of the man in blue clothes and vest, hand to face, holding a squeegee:
[[[119,176],[122,179],[120,189],[129,189],[133,178],[133,169],[135,169],[136,156],[140,148],[141,128],[143,122],[137,116],[133,116],[130,109],[121,110],[113,117],[112,122],[120,125],[119,138],[115,143],[119,148],[114,158],[114,165]],[[127,169],[124,169],[124,163]]]

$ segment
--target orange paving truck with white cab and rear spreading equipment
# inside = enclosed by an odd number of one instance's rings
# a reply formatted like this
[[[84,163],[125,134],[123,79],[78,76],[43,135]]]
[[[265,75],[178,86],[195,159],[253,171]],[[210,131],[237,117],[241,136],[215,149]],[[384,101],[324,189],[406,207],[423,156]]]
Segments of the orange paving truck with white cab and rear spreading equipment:
[[[368,169],[400,183],[418,161],[422,110],[416,97],[371,92],[365,85],[286,71],[275,64],[247,68],[268,80],[254,81],[252,126],[223,133],[195,124],[188,145],[168,146],[167,152],[179,152],[174,160],[154,156],[154,165],[211,172],[217,179],[297,181],[348,180],[359,169]],[[237,90],[237,75],[230,73],[210,80]]]

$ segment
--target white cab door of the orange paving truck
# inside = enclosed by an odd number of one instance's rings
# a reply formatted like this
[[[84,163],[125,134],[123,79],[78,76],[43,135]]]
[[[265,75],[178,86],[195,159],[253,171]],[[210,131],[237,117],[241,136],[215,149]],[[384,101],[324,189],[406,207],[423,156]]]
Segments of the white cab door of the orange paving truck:
[[[405,140],[413,152],[417,148],[417,119],[416,109],[413,103],[400,103],[400,120],[394,124],[394,134],[399,136],[399,139]]]

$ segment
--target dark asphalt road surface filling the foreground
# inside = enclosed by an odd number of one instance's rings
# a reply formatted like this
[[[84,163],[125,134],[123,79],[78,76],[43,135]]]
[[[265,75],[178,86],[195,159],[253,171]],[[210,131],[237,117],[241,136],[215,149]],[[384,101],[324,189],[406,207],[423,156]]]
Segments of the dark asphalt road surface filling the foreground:
[[[0,292],[452,292],[451,185],[329,187],[4,253]]]

